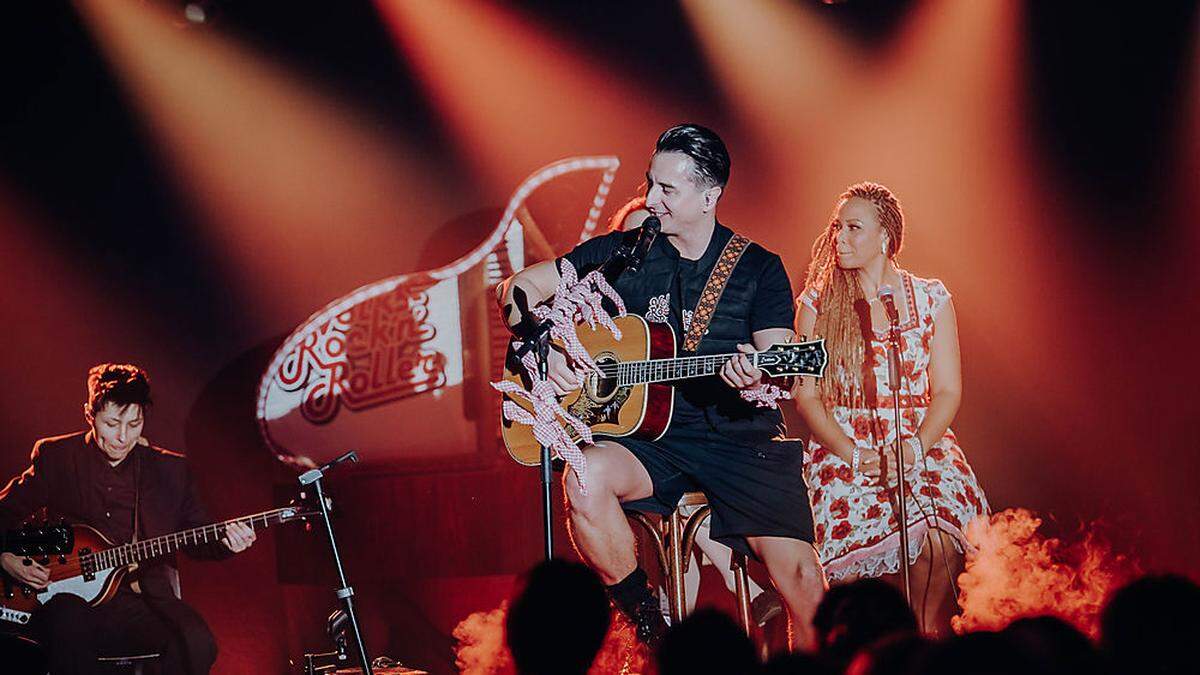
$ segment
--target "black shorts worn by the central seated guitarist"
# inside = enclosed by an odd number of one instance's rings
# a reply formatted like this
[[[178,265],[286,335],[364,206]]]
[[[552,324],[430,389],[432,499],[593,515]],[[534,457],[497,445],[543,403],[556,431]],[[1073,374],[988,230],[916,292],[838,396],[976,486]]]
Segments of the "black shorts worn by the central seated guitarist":
[[[684,492],[698,490],[713,507],[712,537],[734,550],[757,557],[746,537],[812,543],[802,441],[748,446],[704,428],[670,429],[658,441],[610,440],[629,448],[654,484],[653,496],[624,508],[667,515]]]

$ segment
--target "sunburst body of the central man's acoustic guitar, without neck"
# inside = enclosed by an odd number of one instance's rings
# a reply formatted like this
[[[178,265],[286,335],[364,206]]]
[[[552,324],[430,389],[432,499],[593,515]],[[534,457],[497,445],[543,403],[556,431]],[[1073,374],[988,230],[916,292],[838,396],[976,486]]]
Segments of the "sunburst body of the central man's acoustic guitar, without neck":
[[[672,359],[676,356],[674,330],[670,324],[650,323],[636,315],[617,317],[614,322],[620,329],[620,340],[614,339],[602,325],[577,327],[580,342],[601,369],[614,369],[620,363]],[[530,387],[511,346],[504,360],[504,378],[524,389]],[[505,395],[504,400],[532,412],[532,406],[523,399]],[[616,378],[590,372],[584,377],[583,386],[564,396],[559,405],[587,424],[595,435],[656,440],[671,425],[674,387],[658,382],[618,386]],[[568,431],[574,435],[572,429],[568,428]],[[541,444],[532,426],[502,419],[500,436],[514,460],[528,466],[541,461]]]

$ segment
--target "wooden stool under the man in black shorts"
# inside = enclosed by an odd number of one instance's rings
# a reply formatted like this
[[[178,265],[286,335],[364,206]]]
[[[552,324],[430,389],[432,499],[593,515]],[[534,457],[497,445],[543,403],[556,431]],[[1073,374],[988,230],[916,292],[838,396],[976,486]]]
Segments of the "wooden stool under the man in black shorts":
[[[690,515],[684,515],[683,510],[697,507]],[[708,497],[703,492],[684,492],[676,504],[671,515],[654,520],[647,514],[637,510],[626,510],[634,522],[642,526],[654,542],[654,549],[662,567],[662,575],[666,580],[667,605],[671,611],[671,625],[678,626],[688,614],[688,598],[684,589],[684,574],[691,565],[691,552],[696,545],[696,531],[704,524],[713,507],[708,504]],[[745,554],[733,551],[730,561],[730,569],[733,571],[733,590],[737,596],[738,622],[742,628],[750,634],[750,581],[746,575]]]

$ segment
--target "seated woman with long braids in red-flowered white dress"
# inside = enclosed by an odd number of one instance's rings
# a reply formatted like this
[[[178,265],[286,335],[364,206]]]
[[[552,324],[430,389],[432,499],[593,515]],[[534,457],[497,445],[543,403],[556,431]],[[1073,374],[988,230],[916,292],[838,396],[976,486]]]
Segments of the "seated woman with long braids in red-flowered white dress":
[[[961,396],[954,305],[941,281],[896,265],[902,241],[904,215],[887,187],[863,183],[838,199],[812,246],[797,312],[798,334],[826,339],[829,366],[823,380],[802,378],[796,398],[812,432],[805,479],[826,574],[834,583],[899,581],[889,322],[878,294],[890,287],[900,319],[910,585],[918,617],[938,633],[956,609],[964,531],[986,515],[988,502],[949,428]]]

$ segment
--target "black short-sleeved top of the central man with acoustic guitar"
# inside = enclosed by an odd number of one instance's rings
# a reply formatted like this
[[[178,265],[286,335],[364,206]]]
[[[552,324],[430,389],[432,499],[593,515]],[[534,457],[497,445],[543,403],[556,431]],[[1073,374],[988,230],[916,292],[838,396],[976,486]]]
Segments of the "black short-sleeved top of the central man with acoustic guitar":
[[[624,232],[613,232],[589,239],[563,257],[575,265],[582,276],[608,259],[613,251],[620,246],[625,234]],[[700,259],[691,261],[679,255],[670,237],[660,234],[655,238],[642,268],[637,273],[625,273],[616,283],[616,289],[624,300],[625,309],[650,322],[670,323],[676,331],[677,350],[682,351],[683,336],[686,327],[691,323],[691,313],[696,309],[700,294],[704,289],[725,244],[732,237],[733,232],[730,228],[718,223],[704,253]],[[734,276],[739,280],[752,277],[754,294],[746,303],[742,304],[722,297],[713,318],[714,323],[718,321],[745,322],[746,330],[743,338],[745,342],[750,342],[750,335],[757,330],[791,329],[794,311],[792,286],[782,261],[775,253],[762,250],[756,244],[751,244],[751,247],[757,247],[758,251],[751,256],[750,249],[746,250],[746,255],[743,255],[743,259],[734,270]],[[757,269],[744,269],[743,265],[748,264],[755,265]],[[731,279],[731,288],[732,286],[733,279]],[[732,347],[733,345],[716,344],[716,341],[706,338],[701,340],[697,353],[728,353],[733,351]],[[712,426],[714,422],[720,422],[720,419],[714,420],[713,416],[714,411],[720,407],[716,401],[727,402],[731,399],[732,392],[727,384],[715,376],[684,380],[674,384],[672,428],[701,424]],[[762,418],[761,422],[764,424],[761,426],[770,428],[770,431],[766,434],[767,437],[775,434],[774,428],[780,426],[779,411],[754,408],[752,404],[745,404],[739,408],[740,416]]]

